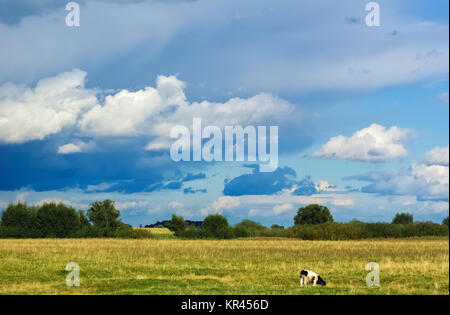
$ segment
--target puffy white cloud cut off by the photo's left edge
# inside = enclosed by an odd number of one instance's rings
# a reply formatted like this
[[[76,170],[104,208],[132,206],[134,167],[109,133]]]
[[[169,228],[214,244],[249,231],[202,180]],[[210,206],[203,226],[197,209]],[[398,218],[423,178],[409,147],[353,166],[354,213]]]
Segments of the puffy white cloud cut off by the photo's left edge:
[[[75,125],[97,103],[95,92],[84,88],[85,76],[76,69],[42,79],[35,88],[0,86],[0,141],[42,140]]]

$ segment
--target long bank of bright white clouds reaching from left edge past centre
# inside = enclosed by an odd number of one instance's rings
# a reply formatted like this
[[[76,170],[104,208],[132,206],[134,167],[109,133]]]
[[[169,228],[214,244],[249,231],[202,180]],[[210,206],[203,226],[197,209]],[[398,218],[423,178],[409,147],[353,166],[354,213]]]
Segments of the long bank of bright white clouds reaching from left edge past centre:
[[[89,137],[147,136],[153,139],[145,149],[161,150],[171,143],[171,128],[192,126],[194,117],[201,117],[205,126],[223,128],[286,121],[294,111],[292,104],[267,93],[223,103],[190,103],[184,93],[186,84],[175,76],[158,76],[156,87],[120,90],[101,104],[96,92],[84,87],[85,77],[85,72],[73,70],[42,79],[35,89],[13,84],[0,87],[0,141],[44,139],[74,127],[77,134]],[[60,146],[58,153],[87,152],[94,147],[92,141],[75,141]]]

